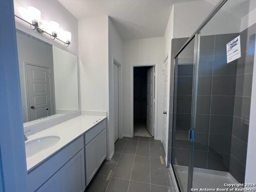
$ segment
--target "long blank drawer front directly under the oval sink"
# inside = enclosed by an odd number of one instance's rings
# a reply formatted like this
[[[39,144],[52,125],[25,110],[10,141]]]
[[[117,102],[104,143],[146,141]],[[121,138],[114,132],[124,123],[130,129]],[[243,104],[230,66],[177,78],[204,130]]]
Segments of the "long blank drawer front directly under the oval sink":
[[[28,192],[34,192],[38,189],[82,148],[84,148],[84,136],[80,136],[74,142],[68,144],[68,146],[29,172]]]

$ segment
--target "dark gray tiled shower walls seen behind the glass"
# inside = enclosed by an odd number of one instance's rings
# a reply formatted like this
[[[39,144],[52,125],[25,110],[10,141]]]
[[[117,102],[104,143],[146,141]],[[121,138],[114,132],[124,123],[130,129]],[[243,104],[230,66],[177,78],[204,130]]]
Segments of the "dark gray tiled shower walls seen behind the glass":
[[[230,171],[239,181],[244,182],[252,68],[254,60],[255,25],[241,32],[242,56],[227,64],[226,44],[239,34],[201,36],[200,64],[198,76],[198,105],[194,166],[210,170]],[[172,57],[187,38],[172,40]],[[191,57],[186,51],[179,60]],[[193,55],[192,55],[193,56]],[[174,114],[174,138],[172,143],[172,111],[170,111],[169,152],[174,145],[174,156],[179,165],[188,166],[189,143],[186,141],[190,129],[191,97],[184,95],[192,89],[192,66],[179,67],[178,86],[184,87],[182,96],[177,96],[177,114]],[[173,107],[174,60],[171,63],[170,108]],[[183,98],[182,98],[183,97]],[[180,100],[179,100],[180,98]],[[186,105],[181,102],[186,100]],[[184,139],[177,134],[183,134]],[[170,153],[169,153],[170,154]],[[168,157],[170,162],[170,156]]]

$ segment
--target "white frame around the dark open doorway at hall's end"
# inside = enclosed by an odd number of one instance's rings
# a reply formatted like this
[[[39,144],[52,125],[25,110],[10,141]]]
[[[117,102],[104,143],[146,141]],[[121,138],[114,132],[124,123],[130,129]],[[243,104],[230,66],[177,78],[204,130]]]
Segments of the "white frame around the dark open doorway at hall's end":
[[[132,64],[131,65],[131,73],[130,73],[130,79],[131,79],[131,87],[130,87],[130,90],[131,90],[131,103],[130,103],[130,107],[131,107],[131,127],[130,127],[130,133],[131,133],[131,137],[134,136],[134,132],[133,132],[133,129],[134,129],[134,122],[133,122],[133,112],[134,112],[134,108],[133,108],[133,104],[134,104],[134,99],[133,99],[133,94],[134,94],[134,85],[133,85],[133,81],[134,81],[134,67],[146,67],[146,66],[154,66],[155,67],[155,86],[154,86],[154,92],[155,92],[155,99],[154,99],[154,102],[155,102],[155,105],[154,105],[154,138],[158,138],[158,135],[157,135],[157,112],[158,112],[158,63],[148,63],[148,64]]]

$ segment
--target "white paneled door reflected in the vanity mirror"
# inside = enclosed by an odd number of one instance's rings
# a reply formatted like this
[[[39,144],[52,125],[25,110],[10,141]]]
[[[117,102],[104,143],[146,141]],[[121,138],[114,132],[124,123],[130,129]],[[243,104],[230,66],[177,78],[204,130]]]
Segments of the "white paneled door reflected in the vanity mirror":
[[[52,114],[49,68],[26,64],[30,121]]]

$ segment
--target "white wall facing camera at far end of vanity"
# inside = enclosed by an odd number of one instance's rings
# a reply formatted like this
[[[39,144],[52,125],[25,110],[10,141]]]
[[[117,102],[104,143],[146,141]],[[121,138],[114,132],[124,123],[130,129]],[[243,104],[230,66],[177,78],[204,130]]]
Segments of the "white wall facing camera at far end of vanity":
[[[108,16],[78,21],[81,110],[108,111]],[[114,150],[107,119],[107,157]]]

